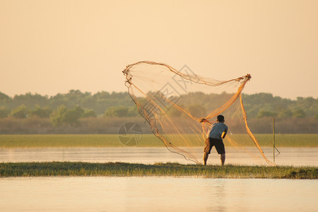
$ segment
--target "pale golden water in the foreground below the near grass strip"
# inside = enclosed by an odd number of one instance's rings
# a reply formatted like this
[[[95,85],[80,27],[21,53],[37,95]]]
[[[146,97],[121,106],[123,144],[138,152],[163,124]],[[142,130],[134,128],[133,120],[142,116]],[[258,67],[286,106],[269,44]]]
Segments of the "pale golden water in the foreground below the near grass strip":
[[[0,211],[317,211],[318,181],[175,177],[0,179]]]

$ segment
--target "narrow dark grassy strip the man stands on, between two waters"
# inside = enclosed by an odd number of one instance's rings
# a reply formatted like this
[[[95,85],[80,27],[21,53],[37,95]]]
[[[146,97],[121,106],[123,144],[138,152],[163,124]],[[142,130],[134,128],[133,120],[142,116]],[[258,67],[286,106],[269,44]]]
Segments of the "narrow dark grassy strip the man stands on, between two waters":
[[[194,176],[209,178],[317,179],[318,167],[181,165],[159,163],[0,163],[0,177],[42,176]]]

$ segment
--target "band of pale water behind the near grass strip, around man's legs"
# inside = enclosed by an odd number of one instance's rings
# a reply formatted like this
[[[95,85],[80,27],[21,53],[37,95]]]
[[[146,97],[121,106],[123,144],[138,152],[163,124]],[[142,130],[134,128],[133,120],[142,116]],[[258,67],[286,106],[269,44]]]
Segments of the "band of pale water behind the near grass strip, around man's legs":
[[[273,160],[273,149],[263,148],[269,160]],[[194,148],[195,155],[201,160],[202,148]],[[255,147],[225,148],[225,164],[266,165],[261,153]],[[318,148],[279,148],[276,153],[277,165],[318,166]],[[83,161],[90,163],[167,163],[177,162],[193,164],[182,155],[171,153],[167,148],[0,148],[1,162],[29,161]],[[220,164],[220,156],[213,148],[208,158],[208,165]]]

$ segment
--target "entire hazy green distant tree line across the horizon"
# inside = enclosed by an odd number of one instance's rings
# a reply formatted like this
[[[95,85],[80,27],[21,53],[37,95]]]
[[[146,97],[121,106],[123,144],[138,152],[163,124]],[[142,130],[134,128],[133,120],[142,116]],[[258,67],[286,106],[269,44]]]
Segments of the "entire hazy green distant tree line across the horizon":
[[[229,98],[231,94],[205,94],[201,92],[188,93],[180,98],[178,104],[183,105],[196,117],[206,114],[211,108]],[[242,95],[245,110],[249,119],[311,119],[318,121],[318,98],[297,98],[290,100],[273,96],[271,93],[256,93]],[[196,102],[205,102],[198,105]],[[169,111],[172,117],[182,116],[181,112],[172,107]],[[80,90],[69,90],[69,93],[54,96],[25,93],[13,98],[0,92],[0,124],[8,119],[47,119],[52,127],[81,125],[81,119],[97,120],[112,118],[138,117],[136,105],[126,92],[106,91],[82,93]],[[5,121],[6,119],[6,121]],[[257,121],[255,121],[257,122]],[[16,123],[16,122],[15,122]],[[47,124],[48,122],[45,121]],[[0,128],[1,133],[1,128]]]

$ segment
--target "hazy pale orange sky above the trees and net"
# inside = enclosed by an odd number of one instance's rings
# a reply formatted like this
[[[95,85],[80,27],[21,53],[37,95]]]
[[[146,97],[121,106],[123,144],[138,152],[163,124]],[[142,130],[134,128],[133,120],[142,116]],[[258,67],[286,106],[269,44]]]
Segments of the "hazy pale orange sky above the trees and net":
[[[125,91],[150,60],[245,93],[318,97],[318,1],[0,1],[0,91]]]

